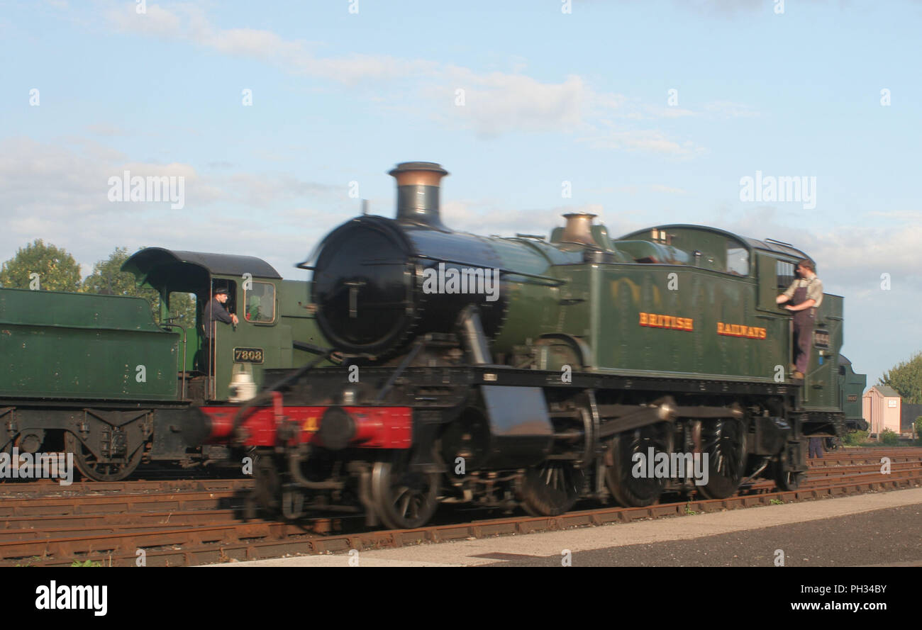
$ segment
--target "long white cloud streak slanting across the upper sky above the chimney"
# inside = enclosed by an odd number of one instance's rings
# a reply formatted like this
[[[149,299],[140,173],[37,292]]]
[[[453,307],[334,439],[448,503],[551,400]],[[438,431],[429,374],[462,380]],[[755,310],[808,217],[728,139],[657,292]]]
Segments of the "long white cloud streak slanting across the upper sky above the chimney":
[[[526,76],[522,74],[526,67],[522,59],[514,60],[513,73],[478,73],[457,65],[386,54],[323,57],[314,52],[316,44],[286,39],[269,30],[220,29],[202,9],[186,3],[169,8],[148,4],[147,15],[137,15],[132,3],[110,12],[109,19],[122,32],[186,41],[223,54],[278,64],[293,75],[349,87],[406,80],[409,87],[392,93],[376,88],[367,98],[445,126],[472,129],[484,137],[511,132],[574,133],[597,126],[599,116],[642,117],[637,111],[624,109],[627,99],[623,95],[598,92],[581,76],[567,76],[561,82]],[[463,106],[457,104],[459,89],[464,90]],[[669,118],[691,115],[687,110],[651,111]],[[690,143],[680,144],[656,130],[619,132],[607,140],[599,139],[596,146],[684,157],[698,153]]]

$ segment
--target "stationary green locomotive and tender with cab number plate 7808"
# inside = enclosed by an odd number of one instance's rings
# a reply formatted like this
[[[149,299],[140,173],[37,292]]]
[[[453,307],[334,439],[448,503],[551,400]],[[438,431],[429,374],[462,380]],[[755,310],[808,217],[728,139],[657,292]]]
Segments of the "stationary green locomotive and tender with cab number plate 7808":
[[[123,271],[160,294],[160,323],[141,297],[0,288],[0,455],[9,461],[65,450],[91,481],[126,479],[142,463],[230,463],[226,447],[183,441],[189,406],[245,400],[266,368],[300,366],[321,343],[307,283],[253,256],[151,247]],[[202,310],[212,286],[228,292],[240,323],[211,331],[209,346]],[[171,317],[177,293],[195,295],[195,321]]]

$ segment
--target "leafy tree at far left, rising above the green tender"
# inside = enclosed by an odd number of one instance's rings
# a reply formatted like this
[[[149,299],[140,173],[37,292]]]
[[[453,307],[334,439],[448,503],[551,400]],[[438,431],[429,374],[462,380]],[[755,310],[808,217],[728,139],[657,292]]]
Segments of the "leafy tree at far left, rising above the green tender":
[[[35,239],[3,263],[0,286],[40,288],[43,291],[79,291],[80,266],[67,251]]]

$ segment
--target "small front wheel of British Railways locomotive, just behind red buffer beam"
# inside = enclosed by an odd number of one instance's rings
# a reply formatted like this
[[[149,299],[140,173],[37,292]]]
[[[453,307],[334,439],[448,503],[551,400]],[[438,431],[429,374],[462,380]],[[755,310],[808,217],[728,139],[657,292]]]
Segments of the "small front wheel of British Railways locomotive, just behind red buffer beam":
[[[374,462],[372,504],[378,518],[393,530],[425,525],[439,505],[440,476],[438,472],[409,472],[404,457]]]

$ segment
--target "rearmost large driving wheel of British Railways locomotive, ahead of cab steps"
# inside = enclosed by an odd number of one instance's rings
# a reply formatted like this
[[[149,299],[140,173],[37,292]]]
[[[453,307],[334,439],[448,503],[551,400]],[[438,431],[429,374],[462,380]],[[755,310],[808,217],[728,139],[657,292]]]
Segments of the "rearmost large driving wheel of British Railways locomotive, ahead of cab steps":
[[[746,471],[746,433],[742,423],[732,418],[703,423],[702,450],[707,453],[708,482],[696,487],[707,498],[733,496]]]

